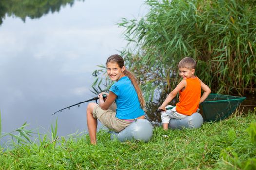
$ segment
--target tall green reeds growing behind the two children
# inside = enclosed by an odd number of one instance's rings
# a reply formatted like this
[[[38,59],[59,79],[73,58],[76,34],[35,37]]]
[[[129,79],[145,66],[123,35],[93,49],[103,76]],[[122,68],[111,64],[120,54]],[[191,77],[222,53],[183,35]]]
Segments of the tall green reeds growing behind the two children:
[[[147,0],[140,20],[123,18],[122,54],[148,101],[179,82],[178,62],[196,59],[196,75],[213,92],[256,90],[256,0]]]

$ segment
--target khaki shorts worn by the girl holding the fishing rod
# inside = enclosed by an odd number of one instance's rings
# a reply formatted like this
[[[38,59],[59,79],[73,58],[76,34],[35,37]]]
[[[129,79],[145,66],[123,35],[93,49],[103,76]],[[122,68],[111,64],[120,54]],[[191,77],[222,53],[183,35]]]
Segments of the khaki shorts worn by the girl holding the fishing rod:
[[[98,119],[108,129],[115,132],[120,132],[131,124],[131,122],[118,119],[116,117],[116,108],[117,106],[115,103],[113,103],[108,110],[103,110],[99,107],[99,105],[96,105],[93,109],[93,117]]]

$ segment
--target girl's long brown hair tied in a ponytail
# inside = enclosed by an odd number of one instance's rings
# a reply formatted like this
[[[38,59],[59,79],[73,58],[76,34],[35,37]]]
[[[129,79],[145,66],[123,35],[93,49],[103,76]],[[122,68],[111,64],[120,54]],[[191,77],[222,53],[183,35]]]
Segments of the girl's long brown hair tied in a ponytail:
[[[110,57],[108,57],[106,64],[108,64],[109,62],[117,63],[120,68],[122,68],[124,66],[124,60],[118,54],[111,55]],[[131,80],[131,82],[132,82],[132,84],[135,88],[135,91],[138,95],[138,100],[140,102],[140,106],[141,106],[142,109],[145,109],[145,105],[146,105],[145,99],[144,99],[142,91],[141,91],[141,89],[138,85],[136,77],[133,75],[133,73],[131,73],[127,69],[125,69],[123,73],[124,73],[125,76],[129,77],[129,79]]]

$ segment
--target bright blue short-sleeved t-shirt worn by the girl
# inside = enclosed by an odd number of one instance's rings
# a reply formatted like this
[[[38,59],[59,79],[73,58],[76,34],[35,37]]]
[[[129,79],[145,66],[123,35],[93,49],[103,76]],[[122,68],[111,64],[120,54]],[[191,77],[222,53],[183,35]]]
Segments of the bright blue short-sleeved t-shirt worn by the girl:
[[[119,119],[134,119],[144,115],[144,110],[140,107],[138,95],[131,80],[124,76],[115,82],[110,91],[117,95],[116,117]]]

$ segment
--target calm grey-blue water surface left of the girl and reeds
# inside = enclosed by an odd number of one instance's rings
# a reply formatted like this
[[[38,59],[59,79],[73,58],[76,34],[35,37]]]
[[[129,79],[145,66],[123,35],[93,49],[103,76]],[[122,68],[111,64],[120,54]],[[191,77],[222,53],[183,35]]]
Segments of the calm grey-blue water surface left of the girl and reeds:
[[[146,11],[144,0],[73,1],[59,11],[49,7],[53,12],[35,19],[2,18],[0,110],[4,133],[24,122],[30,124],[27,129],[47,133],[56,119],[59,136],[86,131],[87,103],[52,113],[95,97],[90,91],[92,72],[127,43],[123,28],[116,23],[121,18],[139,19]]]

